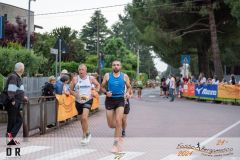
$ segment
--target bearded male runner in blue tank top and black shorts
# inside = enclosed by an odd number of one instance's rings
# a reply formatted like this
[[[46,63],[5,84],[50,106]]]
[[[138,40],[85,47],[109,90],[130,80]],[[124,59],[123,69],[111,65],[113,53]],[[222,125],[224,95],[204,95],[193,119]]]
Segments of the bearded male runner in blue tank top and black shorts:
[[[106,73],[101,85],[101,90],[106,94],[105,107],[107,122],[110,128],[115,128],[112,152],[120,152],[122,121],[125,106],[125,98],[130,98],[131,85],[127,74],[120,72],[121,62],[112,62],[113,72]],[[107,90],[105,86],[107,84]],[[127,87],[125,93],[125,86]]]

